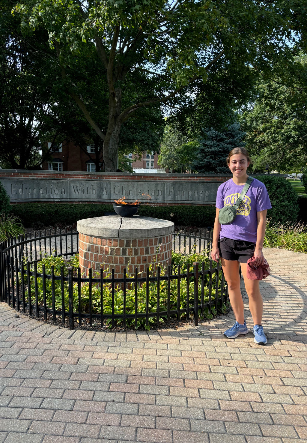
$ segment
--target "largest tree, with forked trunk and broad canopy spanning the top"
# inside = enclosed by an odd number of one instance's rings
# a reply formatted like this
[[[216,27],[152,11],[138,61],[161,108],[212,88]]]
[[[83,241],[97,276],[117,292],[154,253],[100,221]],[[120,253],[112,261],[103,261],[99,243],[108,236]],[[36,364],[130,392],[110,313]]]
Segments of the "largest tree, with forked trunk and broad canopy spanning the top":
[[[108,171],[117,168],[120,128],[137,109],[184,97],[187,86],[226,67],[266,72],[288,62],[291,42],[306,45],[306,9],[297,0],[24,0],[15,11],[25,32],[47,31],[63,92],[103,141]],[[86,94],[89,66],[104,93],[105,125]],[[146,72],[154,87],[123,106],[134,71]]]

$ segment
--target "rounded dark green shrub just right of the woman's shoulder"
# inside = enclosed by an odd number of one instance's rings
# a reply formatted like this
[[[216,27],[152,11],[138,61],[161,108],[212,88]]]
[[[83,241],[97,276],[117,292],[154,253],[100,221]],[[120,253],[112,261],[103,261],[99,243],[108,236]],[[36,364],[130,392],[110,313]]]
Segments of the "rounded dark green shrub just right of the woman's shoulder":
[[[268,218],[272,223],[295,223],[299,214],[298,198],[291,183],[284,177],[259,175],[257,179],[265,184],[271,200],[272,209]]]

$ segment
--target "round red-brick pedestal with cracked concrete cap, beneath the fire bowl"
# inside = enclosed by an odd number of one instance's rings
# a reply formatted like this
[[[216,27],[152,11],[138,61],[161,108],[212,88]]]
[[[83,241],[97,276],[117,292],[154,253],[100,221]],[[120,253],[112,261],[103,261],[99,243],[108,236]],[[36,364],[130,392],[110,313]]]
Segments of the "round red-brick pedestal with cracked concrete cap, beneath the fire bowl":
[[[119,215],[87,218],[77,223],[79,232],[79,263],[81,272],[114,268],[115,278],[122,278],[124,268],[134,274],[136,267],[142,276],[153,263],[171,264],[174,223],[158,218]]]

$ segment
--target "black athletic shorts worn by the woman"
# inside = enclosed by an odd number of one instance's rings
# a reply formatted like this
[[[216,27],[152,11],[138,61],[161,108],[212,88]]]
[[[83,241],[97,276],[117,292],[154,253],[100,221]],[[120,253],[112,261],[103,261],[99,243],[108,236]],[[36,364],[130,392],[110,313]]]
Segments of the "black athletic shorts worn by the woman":
[[[247,260],[254,255],[256,243],[243,240],[232,240],[231,238],[220,238],[218,249],[220,256],[225,260],[237,260],[240,263],[247,263]]]

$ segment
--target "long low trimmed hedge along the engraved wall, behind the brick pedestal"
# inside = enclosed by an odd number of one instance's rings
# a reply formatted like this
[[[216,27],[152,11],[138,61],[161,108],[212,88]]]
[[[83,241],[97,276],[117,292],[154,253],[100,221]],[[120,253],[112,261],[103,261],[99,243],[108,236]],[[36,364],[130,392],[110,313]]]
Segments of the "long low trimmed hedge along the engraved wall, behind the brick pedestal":
[[[10,212],[19,217],[25,226],[39,223],[43,226],[72,225],[83,218],[101,217],[114,213],[112,205],[23,203],[11,205]],[[214,224],[215,206],[140,206],[138,215],[163,218],[175,225],[210,226]]]

